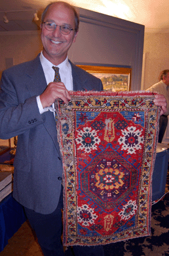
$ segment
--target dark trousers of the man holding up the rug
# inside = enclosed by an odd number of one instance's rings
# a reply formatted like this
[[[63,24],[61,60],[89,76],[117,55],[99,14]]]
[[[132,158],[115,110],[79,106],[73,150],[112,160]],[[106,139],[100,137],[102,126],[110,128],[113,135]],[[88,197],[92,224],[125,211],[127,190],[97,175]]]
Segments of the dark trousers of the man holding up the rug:
[[[64,253],[62,245],[62,211],[63,193],[56,210],[49,215],[35,213],[25,207],[29,223],[37,235],[37,239],[45,256],[104,256],[103,246],[73,246]]]

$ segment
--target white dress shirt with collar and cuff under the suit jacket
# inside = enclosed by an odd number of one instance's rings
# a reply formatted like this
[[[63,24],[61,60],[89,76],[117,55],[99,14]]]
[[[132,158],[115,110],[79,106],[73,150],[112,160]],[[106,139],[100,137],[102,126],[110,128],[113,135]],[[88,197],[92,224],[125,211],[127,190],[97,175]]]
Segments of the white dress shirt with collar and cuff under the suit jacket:
[[[55,72],[52,68],[52,66],[54,66],[54,64],[50,63],[50,61],[48,61],[44,57],[43,52],[41,52],[40,61],[41,61],[42,67],[43,67],[43,72],[45,74],[45,78],[47,80],[47,84],[49,84],[50,82],[54,81]],[[58,64],[57,67],[59,68],[59,74],[60,74],[61,81],[64,83],[64,85],[66,86],[66,89],[68,91],[72,91],[73,90],[73,78],[72,78],[72,74],[71,74],[71,64],[68,61],[68,57],[66,57],[66,60],[63,63]],[[52,107],[45,107],[43,109],[43,106],[42,106],[41,100],[40,100],[40,96],[37,96],[37,105],[39,107],[39,112],[41,114],[48,110],[54,112],[54,104],[52,104]]]

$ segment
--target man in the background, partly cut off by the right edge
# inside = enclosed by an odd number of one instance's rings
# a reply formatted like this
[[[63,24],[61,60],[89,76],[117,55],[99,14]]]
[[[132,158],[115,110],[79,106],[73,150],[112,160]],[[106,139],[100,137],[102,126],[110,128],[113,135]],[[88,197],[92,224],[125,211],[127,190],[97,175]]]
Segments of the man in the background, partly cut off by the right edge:
[[[169,69],[162,70],[159,75],[159,81],[157,84],[151,86],[147,91],[155,91],[164,95],[167,103],[167,111],[164,115],[160,116],[159,121],[159,143],[162,143],[162,138],[166,131],[166,126],[168,124],[168,115],[169,115]]]

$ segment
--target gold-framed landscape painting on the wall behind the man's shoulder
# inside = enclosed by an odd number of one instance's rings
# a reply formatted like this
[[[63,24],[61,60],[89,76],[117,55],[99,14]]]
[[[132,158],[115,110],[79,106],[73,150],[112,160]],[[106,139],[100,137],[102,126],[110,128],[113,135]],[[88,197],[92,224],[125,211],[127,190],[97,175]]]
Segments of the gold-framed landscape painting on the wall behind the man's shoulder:
[[[104,91],[130,91],[131,68],[77,65],[102,80]]]

